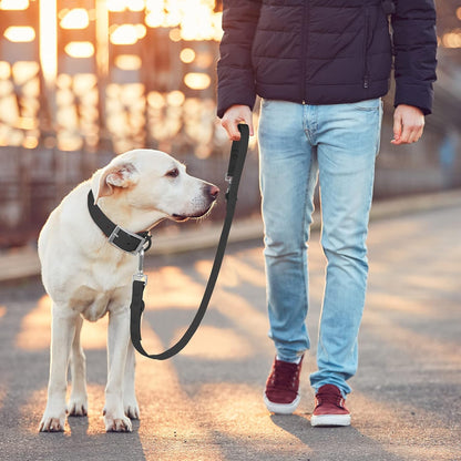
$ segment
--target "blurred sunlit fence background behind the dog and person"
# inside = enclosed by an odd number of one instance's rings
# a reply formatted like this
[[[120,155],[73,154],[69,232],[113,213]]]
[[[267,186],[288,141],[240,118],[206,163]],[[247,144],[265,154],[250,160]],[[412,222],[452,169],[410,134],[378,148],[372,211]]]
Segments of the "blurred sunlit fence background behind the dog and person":
[[[37,238],[72,187],[130,148],[172,153],[225,187],[229,142],[215,115],[219,10],[214,0],[0,1],[0,247]],[[450,11],[443,3],[448,22]],[[461,186],[460,48],[455,23],[447,30],[423,141],[390,144],[392,96],[385,99],[377,198]],[[238,215],[258,209],[249,155]],[[217,207],[212,219],[222,215]]]

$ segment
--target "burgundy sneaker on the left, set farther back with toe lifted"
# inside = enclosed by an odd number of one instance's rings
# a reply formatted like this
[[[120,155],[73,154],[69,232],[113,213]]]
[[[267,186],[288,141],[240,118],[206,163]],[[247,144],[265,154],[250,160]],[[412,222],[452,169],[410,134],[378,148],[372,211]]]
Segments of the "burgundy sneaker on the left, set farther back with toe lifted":
[[[266,382],[264,402],[269,411],[278,414],[290,414],[298,407],[300,396],[299,373],[304,356],[299,363],[274,360],[273,369]]]

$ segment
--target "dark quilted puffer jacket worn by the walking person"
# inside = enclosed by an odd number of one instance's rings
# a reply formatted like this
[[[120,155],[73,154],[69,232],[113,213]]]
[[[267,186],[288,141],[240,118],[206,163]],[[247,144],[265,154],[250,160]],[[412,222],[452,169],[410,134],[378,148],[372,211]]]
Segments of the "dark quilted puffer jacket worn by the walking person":
[[[385,95],[395,53],[395,104],[431,112],[436,80],[433,0],[224,0],[218,116],[256,94],[307,104]]]

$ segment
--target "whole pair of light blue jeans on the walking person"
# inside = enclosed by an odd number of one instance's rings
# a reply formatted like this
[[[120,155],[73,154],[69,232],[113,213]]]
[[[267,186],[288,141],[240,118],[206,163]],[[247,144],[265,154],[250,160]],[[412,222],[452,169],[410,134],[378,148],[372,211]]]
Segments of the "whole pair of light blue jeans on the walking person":
[[[368,276],[366,238],[380,99],[351,104],[301,105],[263,100],[259,168],[270,330],[277,355],[295,361],[309,349],[307,248],[314,191],[320,184],[326,286],[317,348],[315,390],[357,371],[357,337]]]

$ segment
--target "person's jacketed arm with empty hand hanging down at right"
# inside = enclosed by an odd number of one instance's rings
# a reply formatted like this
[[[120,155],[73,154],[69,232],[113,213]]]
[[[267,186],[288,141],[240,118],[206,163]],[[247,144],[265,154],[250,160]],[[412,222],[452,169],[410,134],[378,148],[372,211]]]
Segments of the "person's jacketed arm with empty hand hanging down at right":
[[[395,0],[392,14],[396,98],[393,144],[418,141],[424,115],[432,111],[436,81],[436,8],[433,0]]]

